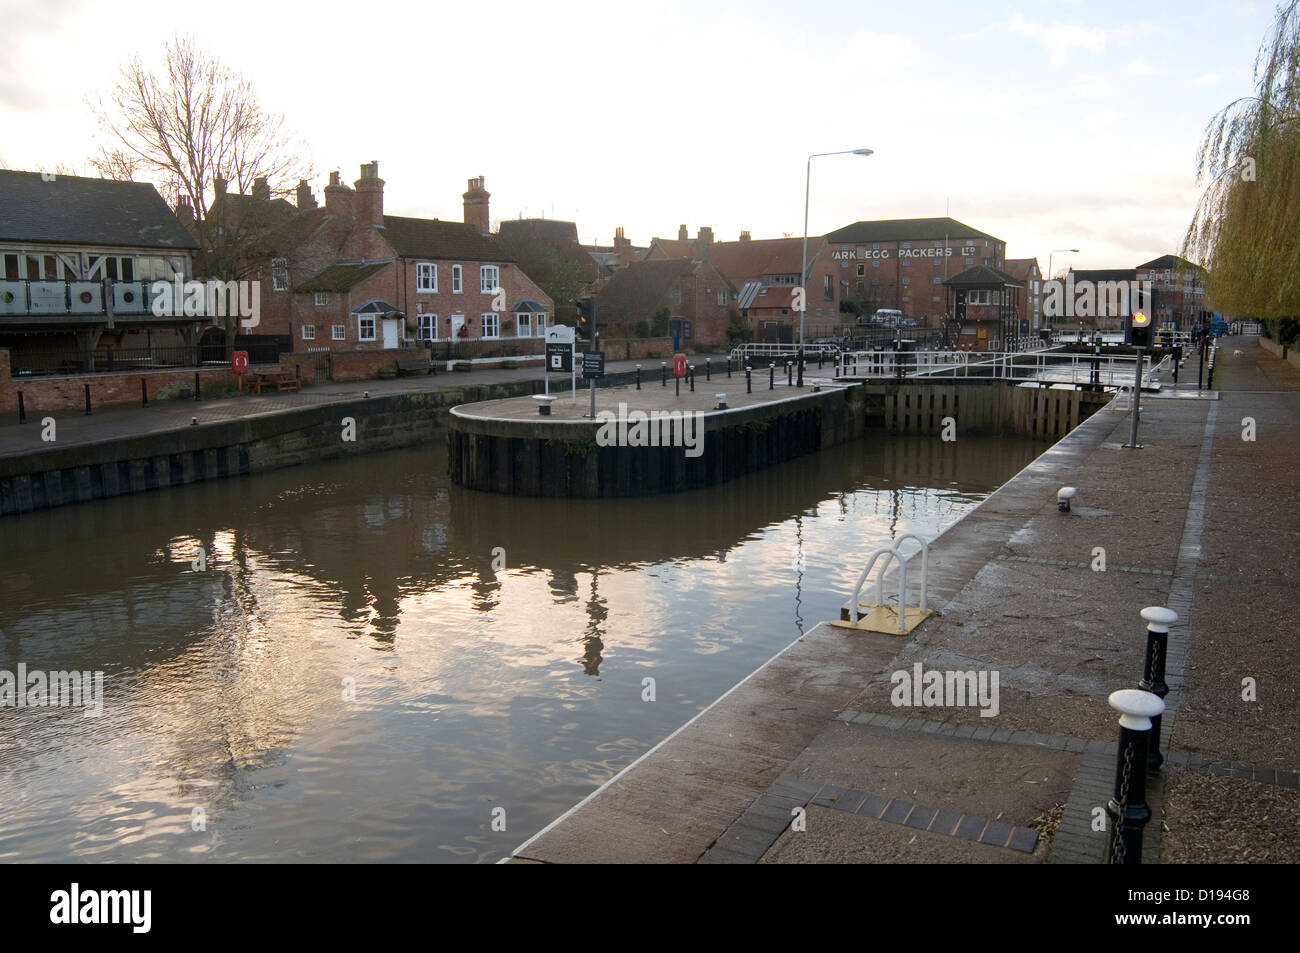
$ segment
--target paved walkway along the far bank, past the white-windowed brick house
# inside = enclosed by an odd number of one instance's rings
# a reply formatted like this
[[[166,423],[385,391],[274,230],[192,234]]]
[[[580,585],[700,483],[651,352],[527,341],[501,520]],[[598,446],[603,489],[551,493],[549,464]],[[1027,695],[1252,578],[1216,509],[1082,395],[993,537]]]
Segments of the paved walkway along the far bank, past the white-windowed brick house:
[[[703,360],[703,356],[692,358],[692,361],[701,364]],[[715,365],[722,363],[725,367],[727,356],[712,355],[711,360]],[[649,359],[642,361],[610,361],[606,365],[606,371],[610,374],[630,373],[636,371],[638,363],[644,365],[647,377],[651,373],[651,368],[658,369],[659,365],[658,360]],[[64,411],[52,416],[57,423],[57,446],[64,449],[83,443],[98,443],[124,437],[139,437],[148,433],[174,430],[190,426],[191,417],[198,417],[199,425],[203,425],[214,421],[281,413],[296,407],[344,403],[355,400],[367,391],[373,397],[384,397],[389,394],[448,390],[510,381],[541,381],[541,378],[542,369],[540,367],[514,368],[510,371],[493,368],[468,373],[439,371],[436,376],[425,377],[318,384],[307,386],[298,393],[286,394],[268,391],[265,394],[244,394],[242,397],[218,398],[214,400],[152,400],[148,407],[127,404],[100,408],[90,417],[77,411]],[[702,374],[697,371],[697,387],[702,380]],[[551,384],[558,385],[560,377],[552,374]],[[22,456],[49,450],[51,445],[40,439],[40,420],[44,416],[47,415],[42,411],[29,408],[27,423],[20,424],[17,411],[10,412],[6,408],[3,419],[0,419],[0,456]]]

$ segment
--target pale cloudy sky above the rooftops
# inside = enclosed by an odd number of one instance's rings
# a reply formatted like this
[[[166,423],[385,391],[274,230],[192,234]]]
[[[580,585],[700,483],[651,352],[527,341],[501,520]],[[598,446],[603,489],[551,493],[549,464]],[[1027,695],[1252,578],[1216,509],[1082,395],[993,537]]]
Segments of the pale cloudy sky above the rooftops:
[[[645,244],[950,213],[1010,257],[1175,251],[1210,116],[1253,87],[1273,0],[246,3],[0,0],[0,168],[83,166],[87,98],[192,34],[394,215],[623,225]]]

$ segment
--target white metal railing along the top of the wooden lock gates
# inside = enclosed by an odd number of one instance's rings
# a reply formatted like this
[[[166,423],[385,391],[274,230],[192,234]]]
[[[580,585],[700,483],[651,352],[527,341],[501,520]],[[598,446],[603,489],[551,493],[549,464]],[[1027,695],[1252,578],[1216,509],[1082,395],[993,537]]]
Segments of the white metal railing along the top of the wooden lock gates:
[[[840,355],[840,377],[987,377],[1041,384],[1091,384],[1105,387],[1132,384],[1136,358],[1130,354],[1066,354],[1037,351],[855,351]],[[1147,384],[1169,358],[1150,367],[1143,356]]]

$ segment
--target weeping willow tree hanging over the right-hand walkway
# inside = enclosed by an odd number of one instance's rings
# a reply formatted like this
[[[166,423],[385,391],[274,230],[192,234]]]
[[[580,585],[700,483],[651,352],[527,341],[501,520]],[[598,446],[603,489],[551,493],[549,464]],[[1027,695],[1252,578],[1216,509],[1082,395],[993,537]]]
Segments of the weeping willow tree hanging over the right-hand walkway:
[[[1183,254],[1208,270],[1216,311],[1265,319],[1291,337],[1300,317],[1300,0],[1278,8],[1254,60],[1256,95],[1205,129],[1205,186]]]

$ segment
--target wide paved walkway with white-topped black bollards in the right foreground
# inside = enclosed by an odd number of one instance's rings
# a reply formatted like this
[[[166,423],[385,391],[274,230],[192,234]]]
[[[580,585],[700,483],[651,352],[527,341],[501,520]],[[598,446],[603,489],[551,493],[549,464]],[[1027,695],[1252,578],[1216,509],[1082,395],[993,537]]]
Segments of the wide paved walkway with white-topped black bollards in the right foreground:
[[[1139,610],[1167,605],[1145,861],[1295,862],[1300,374],[1249,338],[1219,354],[1212,399],[1144,399],[1144,449],[1104,410],[950,528],[940,615],[913,637],[819,625],[516,859],[1100,862],[1106,696],[1141,676]],[[1173,395],[1195,394],[1188,367]],[[916,664],[997,672],[996,716],[896,707],[892,676]]]

